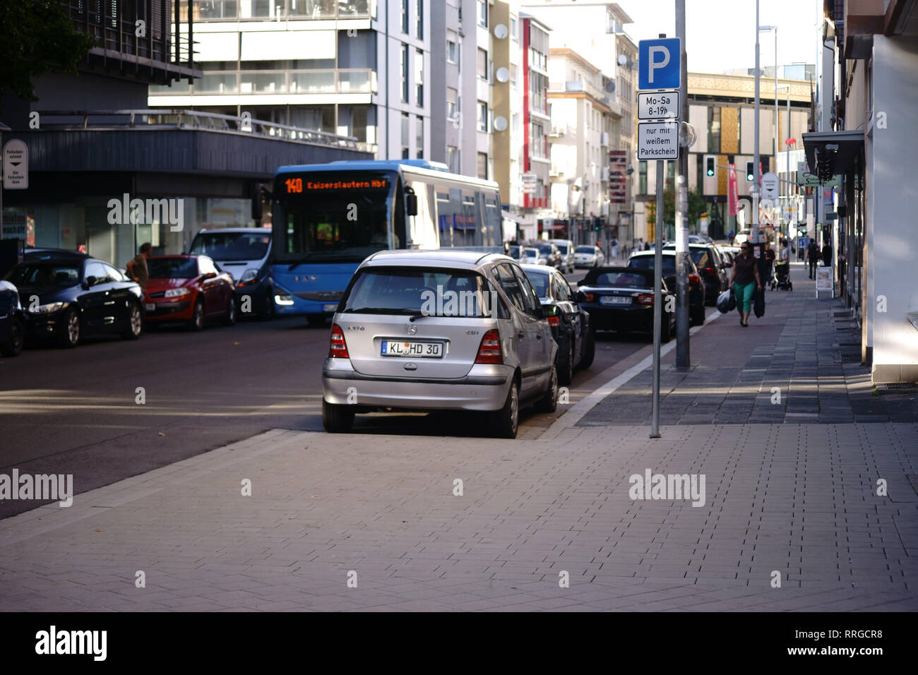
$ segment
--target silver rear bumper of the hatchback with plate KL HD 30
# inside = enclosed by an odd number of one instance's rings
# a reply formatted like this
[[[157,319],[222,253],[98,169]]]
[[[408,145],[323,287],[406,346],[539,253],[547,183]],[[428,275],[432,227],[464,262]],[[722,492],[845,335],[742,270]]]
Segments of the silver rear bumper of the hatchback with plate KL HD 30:
[[[498,411],[507,399],[512,366],[476,364],[465,377],[376,377],[353,369],[347,359],[326,358],[322,396],[328,403],[407,411]]]

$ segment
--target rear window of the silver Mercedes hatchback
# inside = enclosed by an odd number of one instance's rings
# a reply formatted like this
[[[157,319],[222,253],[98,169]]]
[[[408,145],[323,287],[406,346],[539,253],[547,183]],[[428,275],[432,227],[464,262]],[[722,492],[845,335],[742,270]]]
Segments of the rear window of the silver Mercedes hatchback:
[[[470,270],[367,268],[354,281],[344,312],[482,318],[490,316],[490,290]]]

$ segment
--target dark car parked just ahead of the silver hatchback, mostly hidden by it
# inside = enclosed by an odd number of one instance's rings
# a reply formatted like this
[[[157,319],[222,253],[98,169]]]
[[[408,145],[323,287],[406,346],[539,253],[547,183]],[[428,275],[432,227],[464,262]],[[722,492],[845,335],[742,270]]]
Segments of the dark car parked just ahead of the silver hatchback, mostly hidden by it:
[[[555,362],[558,382],[569,385],[574,370],[591,366],[596,354],[589,314],[580,307],[565,276],[554,267],[543,264],[521,266],[539,294],[548,325],[552,327],[552,337],[558,343]]]

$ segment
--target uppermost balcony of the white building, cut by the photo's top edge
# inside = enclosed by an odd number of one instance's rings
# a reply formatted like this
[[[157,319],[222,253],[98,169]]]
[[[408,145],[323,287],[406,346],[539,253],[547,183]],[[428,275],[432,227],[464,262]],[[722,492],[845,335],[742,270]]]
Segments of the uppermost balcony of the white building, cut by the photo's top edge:
[[[375,0],[192,0],[192,7],[194,20],[208,22],[376,17]]]

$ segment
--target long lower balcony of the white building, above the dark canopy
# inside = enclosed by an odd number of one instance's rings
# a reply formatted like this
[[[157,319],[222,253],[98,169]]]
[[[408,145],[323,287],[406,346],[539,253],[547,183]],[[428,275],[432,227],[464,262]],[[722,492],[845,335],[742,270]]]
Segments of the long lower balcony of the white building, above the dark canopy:
[[[375,94],[376,72],[352,70],[206,71],[191,87],[151,86],[150,96],[183,94]]]

